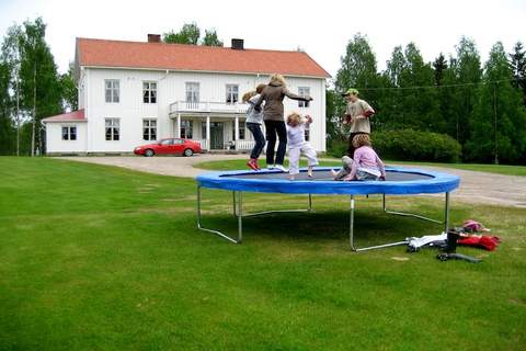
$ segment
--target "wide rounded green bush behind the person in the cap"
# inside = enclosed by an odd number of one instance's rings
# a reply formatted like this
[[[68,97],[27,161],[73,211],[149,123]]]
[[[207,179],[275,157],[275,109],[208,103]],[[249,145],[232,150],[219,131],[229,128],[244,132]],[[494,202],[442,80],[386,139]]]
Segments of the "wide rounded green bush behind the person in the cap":
[[[373,147],[382,159],[408,161],[458,162],[461,146],[445,134],[412,129],[375,132]],[[347,150],[347,141],[331,143],[328,154],[341,157]]]

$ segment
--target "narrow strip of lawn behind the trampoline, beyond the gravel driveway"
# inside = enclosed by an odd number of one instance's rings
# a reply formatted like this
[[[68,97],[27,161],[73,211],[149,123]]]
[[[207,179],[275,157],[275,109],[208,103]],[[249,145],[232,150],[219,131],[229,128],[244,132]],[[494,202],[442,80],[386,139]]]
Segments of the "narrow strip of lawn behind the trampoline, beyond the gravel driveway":
[[[229,160],[229,161],[209,161],[196,165],[197,168],[210,169],[210,170],[233,170],[233,169],[247,169],[247,160]],[[286,160],[285,163],[288,161]],[[409,162],[409,161],[392,161],[386,160],[386,165],[403,165],[410,167],[442,167],[462,169],[468,171],[490,172],[505,176],[521,176],[526,177],[526,166],[505,166],[505,165],[476,165],[476,163],[438,163],[438,162]],[[264,159],[262,166],[265,165]],[[340,159],[323,158],[320,162],[321,166],[340,166]],[[301,167],[307,167],[305,160],[301,160]]]

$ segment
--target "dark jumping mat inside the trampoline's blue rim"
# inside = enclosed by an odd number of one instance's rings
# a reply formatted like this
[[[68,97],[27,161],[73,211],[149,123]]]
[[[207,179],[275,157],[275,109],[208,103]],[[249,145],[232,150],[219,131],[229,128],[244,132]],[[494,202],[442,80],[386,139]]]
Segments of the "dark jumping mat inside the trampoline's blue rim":
[[[221,178],[241,178],[241,179],[276,179],[276,180],[288,180],[289,174],[281,171],[264,171],[264,172],[250,172],[243,174],[224,174]],[[433,179],[433,176],[413,173],[413,172],[397,172],[397,171],[386,171],[386,181],[392,182],[407,182],[415,180],[430,180]],[[309,180],[309,181],[331,181],[334,180],[331,171],[320,170],[313,171],[313,177],[307,177],[307,171],[302,170],[299,174],[296,174],[296,180]]]

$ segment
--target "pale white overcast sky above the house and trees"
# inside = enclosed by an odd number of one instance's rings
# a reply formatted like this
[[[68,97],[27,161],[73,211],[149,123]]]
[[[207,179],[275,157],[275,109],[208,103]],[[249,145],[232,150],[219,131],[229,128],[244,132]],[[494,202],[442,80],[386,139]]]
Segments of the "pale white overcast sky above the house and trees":
[[[62,72],[77,36],[142,42],[190,22],[203,34],[216,29],[225,46],[240,37],[247,48],[301,47],[333,77],[357,32],[367,35],[380,70],[395,46],[410,42],[426,61],[454,54],[462,35],[476,41],[483,61],[498,41],[506,52],[518,41],[526,46],[526,0],[0,0],[1,37],[36,16],[47,23],[46,41]]]

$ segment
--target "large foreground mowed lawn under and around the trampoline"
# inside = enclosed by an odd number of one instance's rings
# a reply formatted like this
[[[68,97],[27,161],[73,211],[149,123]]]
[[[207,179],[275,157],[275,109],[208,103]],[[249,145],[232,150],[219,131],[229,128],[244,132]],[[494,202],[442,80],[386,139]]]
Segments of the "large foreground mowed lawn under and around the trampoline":
[[[195,183],[46,158],[0,158],[0,350],[524,350],[526,224],[521,208],[455,203],[503,244],[348,249],[348,199],[312,214],[247,218],[244,244],[196,229]],[[235,235],[231,193],[204,190],[204,222]],[[390,197],[441,217],[442,197]],[[245,211],[306,196],[250,194]],[[356,202],[361,246],[438,234]]]

